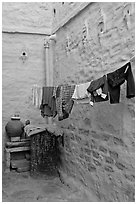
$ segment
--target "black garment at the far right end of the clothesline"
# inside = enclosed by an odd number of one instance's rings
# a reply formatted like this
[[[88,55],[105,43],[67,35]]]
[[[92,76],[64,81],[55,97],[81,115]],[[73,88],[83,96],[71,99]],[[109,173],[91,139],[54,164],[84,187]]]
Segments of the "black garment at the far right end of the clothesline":
[[[127,71],[126,71],[127,69]],[[125,72],[126,71],[126,72]],[[131,70],[131,63],[128,62],[121,68],[114,72],[107,74],[108,88],[110,95],[110,103],[119,103],[120,100],[120,86],[127,80],[127,98],[135,96],[135,82]]]

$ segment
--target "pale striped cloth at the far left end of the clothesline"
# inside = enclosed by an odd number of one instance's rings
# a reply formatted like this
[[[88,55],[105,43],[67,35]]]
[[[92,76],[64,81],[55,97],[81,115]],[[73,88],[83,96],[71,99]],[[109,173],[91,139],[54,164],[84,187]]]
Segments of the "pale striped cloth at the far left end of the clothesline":
[[[36,108],[40,108],[42,101],[42,87],[33,85],[32,87],[32,103]]]

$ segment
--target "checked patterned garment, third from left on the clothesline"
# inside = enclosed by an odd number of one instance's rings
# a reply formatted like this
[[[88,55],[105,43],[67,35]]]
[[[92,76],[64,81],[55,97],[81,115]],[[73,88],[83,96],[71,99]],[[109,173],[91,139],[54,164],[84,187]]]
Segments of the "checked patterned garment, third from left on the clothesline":
[[[58,120],[63,120],[69,117],[74,101],[72,95],[74,93],[75,85],[60,85],[56,91],[56,107],[58,113]]]

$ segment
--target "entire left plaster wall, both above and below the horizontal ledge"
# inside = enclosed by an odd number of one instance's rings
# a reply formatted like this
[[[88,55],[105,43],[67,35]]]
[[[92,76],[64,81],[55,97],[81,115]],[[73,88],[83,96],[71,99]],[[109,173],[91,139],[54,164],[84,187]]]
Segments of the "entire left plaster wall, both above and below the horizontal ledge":
[[[2,135],[11,115],[24,122],[45,124],[32,105],[32,86],[46,84],[44,39],[51,31],[52,3],[4,2],[2,4]],[[31,34],[33,33],[33,34]],[[40,35],[38,34],[40,33]],[[27,58],[22,60],[25,52]]]

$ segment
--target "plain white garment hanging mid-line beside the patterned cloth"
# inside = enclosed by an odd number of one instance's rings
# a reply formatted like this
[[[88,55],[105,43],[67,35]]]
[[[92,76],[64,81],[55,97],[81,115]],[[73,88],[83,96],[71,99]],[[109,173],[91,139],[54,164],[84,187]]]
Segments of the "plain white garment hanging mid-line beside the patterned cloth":
[[[89,87],[91,82],[86,82],[83,84],[79,84],[75,86],[74,93],[72,95],[72,99],[85,99],[89,98],[89,93],[87,92],[87,88]]]

